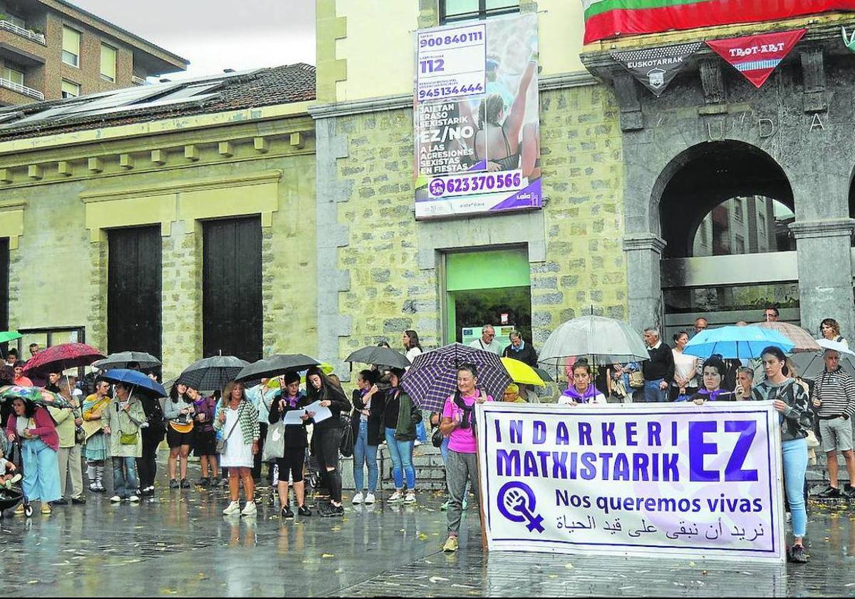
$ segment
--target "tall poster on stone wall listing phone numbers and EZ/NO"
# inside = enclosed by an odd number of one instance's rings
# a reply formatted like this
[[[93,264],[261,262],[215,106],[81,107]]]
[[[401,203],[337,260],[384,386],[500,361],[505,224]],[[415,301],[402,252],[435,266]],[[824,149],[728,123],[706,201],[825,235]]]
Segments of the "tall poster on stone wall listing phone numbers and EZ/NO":
[[[540,208],[537,15],[416,33],[416,219]]]

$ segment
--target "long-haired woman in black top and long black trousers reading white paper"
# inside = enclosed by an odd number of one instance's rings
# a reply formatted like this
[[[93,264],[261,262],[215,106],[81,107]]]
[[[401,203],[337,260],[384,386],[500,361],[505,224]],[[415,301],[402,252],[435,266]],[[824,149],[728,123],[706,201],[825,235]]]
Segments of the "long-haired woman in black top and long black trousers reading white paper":
[[[322,507],[320,515],[325,518],[345,515],[341,505],[341,471],[339,471],[339,446],[343,435],[344,424],[341,422],[341,412],[350,412],[351,402],[345,397],[344,391],[336,387],[317,366],[312,366],[306,372],[306,396],[309,403],[321,402],[321,407],[333,412],[332,418],[315,423],[312,442],[315,444],[315,454],[321,465],[321,476],[327,479],[329,489],[329,505]]]

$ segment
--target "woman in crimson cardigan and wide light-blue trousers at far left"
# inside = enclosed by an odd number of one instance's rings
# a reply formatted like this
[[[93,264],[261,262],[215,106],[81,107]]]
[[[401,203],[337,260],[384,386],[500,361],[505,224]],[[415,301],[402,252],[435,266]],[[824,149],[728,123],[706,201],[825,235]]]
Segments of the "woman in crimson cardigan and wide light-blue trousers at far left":
[[[42,513],[50,513],[50,501],[62,497],[59,489],[59,435],[47,409],[30,400],[15,397],[6,423],[9,442],[21,442],[24,463],[24,496],[41,501]],[[24,504],[15,509],[24,513]]]

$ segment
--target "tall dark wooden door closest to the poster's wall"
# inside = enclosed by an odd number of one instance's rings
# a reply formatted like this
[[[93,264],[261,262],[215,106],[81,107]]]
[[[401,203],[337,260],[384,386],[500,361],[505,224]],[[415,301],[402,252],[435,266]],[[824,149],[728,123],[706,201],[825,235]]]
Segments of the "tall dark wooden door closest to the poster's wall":
[[[260,216],[203,223],[203,353],[262,358]]]

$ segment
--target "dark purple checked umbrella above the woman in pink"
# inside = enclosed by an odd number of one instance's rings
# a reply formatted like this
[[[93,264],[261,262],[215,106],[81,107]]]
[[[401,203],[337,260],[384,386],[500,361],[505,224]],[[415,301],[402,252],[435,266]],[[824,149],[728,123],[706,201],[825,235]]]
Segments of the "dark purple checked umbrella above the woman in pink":
[[[401,379],[401,386],[422,410],[439,412],[445,400],[457,390],[457,368],[464,364],[478,371],[478,388],[494,399],[502,397],[513,380],[495,353],[461,343],[416,356],[410,370]]]

